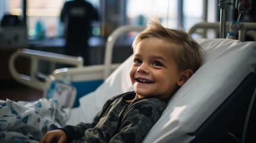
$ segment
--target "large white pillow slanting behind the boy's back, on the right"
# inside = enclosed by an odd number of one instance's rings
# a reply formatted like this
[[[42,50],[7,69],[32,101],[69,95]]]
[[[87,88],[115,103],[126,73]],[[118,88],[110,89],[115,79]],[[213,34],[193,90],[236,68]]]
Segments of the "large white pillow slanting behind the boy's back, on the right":
[[[206,58],[176,92],[143,142],[186,142],[256,65],[256,42],[199,39]]]

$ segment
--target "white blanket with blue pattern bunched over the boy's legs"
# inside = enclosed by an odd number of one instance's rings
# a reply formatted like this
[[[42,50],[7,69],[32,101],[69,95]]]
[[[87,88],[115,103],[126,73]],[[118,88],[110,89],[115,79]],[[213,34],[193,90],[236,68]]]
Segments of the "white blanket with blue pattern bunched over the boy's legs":
[[[38,142],[48,130],[63,126],[67,115],[54,99],[0,100],[0,142]]]

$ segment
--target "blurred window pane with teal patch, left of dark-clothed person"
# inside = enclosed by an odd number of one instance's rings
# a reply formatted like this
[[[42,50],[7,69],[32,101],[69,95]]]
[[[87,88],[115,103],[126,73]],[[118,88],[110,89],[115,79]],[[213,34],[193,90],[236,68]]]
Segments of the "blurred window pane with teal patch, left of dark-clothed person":
[[[61,35],[60,12],[63,0],[27,0],[29,38],[54,38]]]

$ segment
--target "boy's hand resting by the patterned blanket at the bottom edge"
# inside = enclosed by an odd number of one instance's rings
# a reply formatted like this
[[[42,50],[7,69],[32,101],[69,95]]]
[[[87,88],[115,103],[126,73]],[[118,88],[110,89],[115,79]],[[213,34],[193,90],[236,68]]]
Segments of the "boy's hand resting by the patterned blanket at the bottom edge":
[[[66,142],[67,136],[63,132],[63,130],[57,129],[57,130],[51,130],[40,139],[40,143],[50,143],[50,142]]]

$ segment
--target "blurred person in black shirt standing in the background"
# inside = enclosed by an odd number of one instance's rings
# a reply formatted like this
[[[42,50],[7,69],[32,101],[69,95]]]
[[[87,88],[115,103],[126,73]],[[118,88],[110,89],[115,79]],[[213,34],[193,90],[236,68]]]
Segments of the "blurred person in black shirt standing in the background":
[[[88,39],[92,35],[92,21],[98,20],[98,13],[89,2],[73,0],[65,2],[60,15],[64,23],[66,45],[64,54],[81,56],[84,66],[90,64]]]

